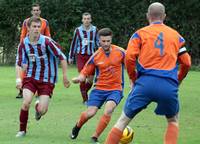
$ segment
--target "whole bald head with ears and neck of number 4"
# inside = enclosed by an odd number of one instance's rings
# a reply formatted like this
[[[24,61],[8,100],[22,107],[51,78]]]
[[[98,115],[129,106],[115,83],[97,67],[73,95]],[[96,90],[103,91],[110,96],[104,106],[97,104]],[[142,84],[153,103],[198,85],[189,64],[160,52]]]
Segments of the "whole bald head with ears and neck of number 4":
[[[163,22],[166,17],[165,6],[159,2],[154,2],[149,5],[147,19],[150,23],[155,21]]]

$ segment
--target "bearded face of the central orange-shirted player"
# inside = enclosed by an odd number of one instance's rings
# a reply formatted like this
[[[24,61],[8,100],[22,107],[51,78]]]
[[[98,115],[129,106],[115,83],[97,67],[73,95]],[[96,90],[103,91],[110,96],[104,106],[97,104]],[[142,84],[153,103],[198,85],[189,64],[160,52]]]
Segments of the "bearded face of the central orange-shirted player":
[[[112,36],[100,36],[99,43],[106,52],[110,51]]]

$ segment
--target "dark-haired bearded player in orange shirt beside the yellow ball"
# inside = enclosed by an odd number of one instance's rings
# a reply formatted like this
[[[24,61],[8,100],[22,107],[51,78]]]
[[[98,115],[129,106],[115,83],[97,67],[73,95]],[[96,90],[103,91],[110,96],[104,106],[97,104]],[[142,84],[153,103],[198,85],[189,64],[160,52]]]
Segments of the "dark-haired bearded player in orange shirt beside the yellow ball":
[[[99,30],[100,48],[90,57],[74,83],[84,82],[96,71],[95,88],[91,91],[86,111],[73,127],[71,139],[76,139],[81,127],[92,118],[105,103],[104,114],[100,118],[91,140],[98,143],[98,137],[110,122],[111,115],[122,99],[123,65],[125,52],[122,48],[112,45],[112,31],[109,28]]]

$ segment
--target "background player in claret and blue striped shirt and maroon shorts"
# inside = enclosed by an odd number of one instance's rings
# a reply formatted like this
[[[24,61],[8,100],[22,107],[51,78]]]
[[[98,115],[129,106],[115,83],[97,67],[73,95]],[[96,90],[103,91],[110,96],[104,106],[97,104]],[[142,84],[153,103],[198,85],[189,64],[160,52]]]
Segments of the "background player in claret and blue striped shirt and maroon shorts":
[[[72,64],[74,57],[76,57],[76,65],[78,72],[80,72],[90,56],[95,52],[98,47],[97,28],[91,24],[91,14],[85,12],[82,14],[83,24],[75,29],[73,40],[70,47],[69,64]],[[91,77],[92,78],[92,77]],[[83,103],[88,100],[88,91],[91,88],[92,83],[81,82],[80,91],[83,99]]]

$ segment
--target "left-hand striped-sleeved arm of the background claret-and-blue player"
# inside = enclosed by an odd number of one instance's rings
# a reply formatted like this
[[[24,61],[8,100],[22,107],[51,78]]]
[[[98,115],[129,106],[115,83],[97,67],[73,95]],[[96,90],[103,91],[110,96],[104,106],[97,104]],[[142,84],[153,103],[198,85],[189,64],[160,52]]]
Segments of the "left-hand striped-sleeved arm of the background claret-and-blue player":
[[[69,64],[73,63],[74,56],[77,49],[77,42],[78,42],[78,29],[74,31],[73,39],[70,45],[69,58],[68,58]]]

